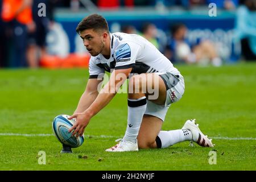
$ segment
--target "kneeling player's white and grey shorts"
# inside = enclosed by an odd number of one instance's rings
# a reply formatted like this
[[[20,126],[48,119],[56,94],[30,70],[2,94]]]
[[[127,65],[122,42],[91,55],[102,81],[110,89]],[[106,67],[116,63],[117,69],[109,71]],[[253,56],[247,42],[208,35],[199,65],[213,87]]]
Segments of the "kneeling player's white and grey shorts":
[[[172,103],[177,102],[183,96],[185,90],[184,78],[181,75],[172,73],[157,73],[166,85],[166,103],[164,105],[155,104],[147,100],[147,108],[144,114],[153,115],[164,121],[167,110]]]

